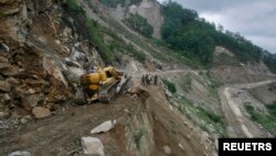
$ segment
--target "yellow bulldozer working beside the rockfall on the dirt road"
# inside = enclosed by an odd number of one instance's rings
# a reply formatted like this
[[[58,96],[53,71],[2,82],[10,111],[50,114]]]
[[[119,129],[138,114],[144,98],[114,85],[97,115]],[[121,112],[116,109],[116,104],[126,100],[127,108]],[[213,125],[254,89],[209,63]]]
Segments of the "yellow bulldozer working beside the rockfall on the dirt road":
[[[81,85],[88,103],[99,101],[109,103],[119,94],[131,77],[114,66],[96,66],[94,71],[81,76]]]

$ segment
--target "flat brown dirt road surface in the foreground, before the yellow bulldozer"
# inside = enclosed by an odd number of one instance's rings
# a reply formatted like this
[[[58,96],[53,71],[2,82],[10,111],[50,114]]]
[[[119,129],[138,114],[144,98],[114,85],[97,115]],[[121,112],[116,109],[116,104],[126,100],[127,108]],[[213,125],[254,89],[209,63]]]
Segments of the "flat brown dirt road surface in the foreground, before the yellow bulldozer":
[[[102,136],[107,155],[121,155],[125,149],[121,122],[136,111],[138,103],[121,96],[112,104],[72,106],[52,117],[32,121],[20,128],[0,131],[0,155],[14,150],[29,150],[35,156],[63,156],[82,153],[79,139],[91,136],[89,131],[108,119],[118,125],[107,136]],[[110,145],[112,144],[112,145]],[[125,153],[124,153],[125,154]]]

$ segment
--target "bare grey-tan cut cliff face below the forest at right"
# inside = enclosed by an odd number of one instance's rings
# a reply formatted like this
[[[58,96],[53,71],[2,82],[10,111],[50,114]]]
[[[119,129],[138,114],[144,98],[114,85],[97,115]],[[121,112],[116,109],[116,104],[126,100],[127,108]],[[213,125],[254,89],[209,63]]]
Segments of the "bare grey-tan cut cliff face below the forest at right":
[[[274,77],[263,61],[242,63],[223,46],[215,48],[213,60],[212,72],[222,83],[257,82]]]

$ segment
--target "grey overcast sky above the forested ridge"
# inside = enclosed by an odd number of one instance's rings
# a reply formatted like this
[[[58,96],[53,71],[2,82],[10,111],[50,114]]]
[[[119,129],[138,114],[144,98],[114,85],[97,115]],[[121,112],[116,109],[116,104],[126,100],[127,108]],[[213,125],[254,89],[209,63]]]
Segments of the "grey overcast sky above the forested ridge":
[[[158,0],[159,2],[166,0]],[[276,53],[276,0],[172,0]]]

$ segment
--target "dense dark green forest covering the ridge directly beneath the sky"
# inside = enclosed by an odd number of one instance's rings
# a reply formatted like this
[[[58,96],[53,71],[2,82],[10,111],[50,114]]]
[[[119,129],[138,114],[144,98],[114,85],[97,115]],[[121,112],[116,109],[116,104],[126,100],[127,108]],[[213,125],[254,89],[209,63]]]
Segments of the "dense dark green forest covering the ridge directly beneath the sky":
[[[234,52],[241,62],[258,62],[276,72],[276,56],[241,37],[238,33],[216,29],[214,23],[199,18],[197,11],[183,9],[177,2],[162,7],[164,22],[161,37],[167,46],[176,52],[199,62],[202,65],[212,64],[212,53],[215,45],[221,45]]]

